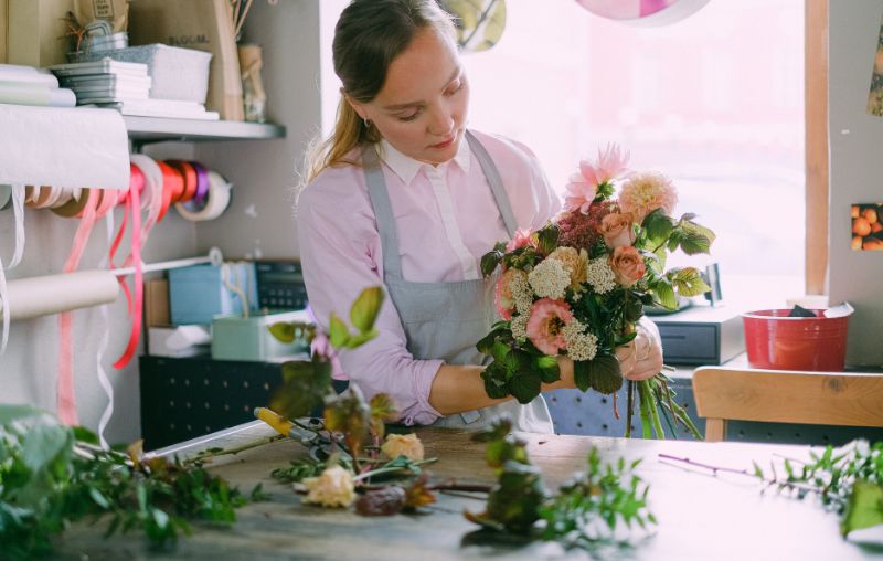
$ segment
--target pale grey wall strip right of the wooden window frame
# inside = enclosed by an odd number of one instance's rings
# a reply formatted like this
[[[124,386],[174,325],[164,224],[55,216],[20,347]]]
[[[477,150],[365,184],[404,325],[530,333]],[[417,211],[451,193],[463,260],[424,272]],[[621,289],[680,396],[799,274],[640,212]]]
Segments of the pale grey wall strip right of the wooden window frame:
[[[831,0],[829,65],[832,304],[849,300],[847,362],[883,364],[883,252],[850,250],[850,205],[883,201],[883,118],[865,112],[883,0]]]

